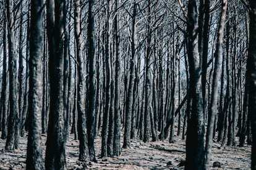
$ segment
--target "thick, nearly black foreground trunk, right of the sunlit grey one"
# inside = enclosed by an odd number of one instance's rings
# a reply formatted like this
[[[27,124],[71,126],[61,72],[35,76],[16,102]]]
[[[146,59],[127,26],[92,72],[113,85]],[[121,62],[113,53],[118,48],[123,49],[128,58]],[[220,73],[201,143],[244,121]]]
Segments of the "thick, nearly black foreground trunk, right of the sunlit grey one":
[[[46,140],[46,169],[66,169],[66,129],[63,101],[64,1],[47,4],[49,42],[50,110]]]

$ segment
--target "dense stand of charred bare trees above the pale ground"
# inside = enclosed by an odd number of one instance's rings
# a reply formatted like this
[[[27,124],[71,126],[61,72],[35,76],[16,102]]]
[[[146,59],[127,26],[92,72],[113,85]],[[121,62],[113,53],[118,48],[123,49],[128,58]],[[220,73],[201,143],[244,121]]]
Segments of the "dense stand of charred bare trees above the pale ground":
[[[41,169],[46,133],[45,168],[66,169],[70,134],[78,159],[96,162],[95,137],[113,157],[177,133],[185,169],[209,169],[213,141],[252,145],[256,169],[255,11],[245,0],[0,1],[5,149],[28,132],[27,169]]]

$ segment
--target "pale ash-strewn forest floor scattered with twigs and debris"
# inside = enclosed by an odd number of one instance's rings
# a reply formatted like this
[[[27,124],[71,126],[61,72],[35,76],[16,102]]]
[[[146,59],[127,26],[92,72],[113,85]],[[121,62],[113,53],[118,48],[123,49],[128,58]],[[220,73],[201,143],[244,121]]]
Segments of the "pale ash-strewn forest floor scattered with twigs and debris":
[[[98,163],[84,164],[78,161],[79,140],[70,136],[66,145],[67,169],[184,169],[185,140],[177,136],[175,139],[174,144],[169,144],[168,140],[144,143],[133,139],[131,148],[122,148],[121,156],[99,158],[101,137],[97,137],[95,150]],[[0,139],[0,169],[25,169],[27,137],[20,139],[20,150],[13,152],[4,150],[5,142]],[[45,143],[46,135],[42,135],[43,156]],[[220,144],[214,143],[212,153],[211,169],[250,169],[250,146],[220,148]],[[217,167],[213,167],[214,163]]]

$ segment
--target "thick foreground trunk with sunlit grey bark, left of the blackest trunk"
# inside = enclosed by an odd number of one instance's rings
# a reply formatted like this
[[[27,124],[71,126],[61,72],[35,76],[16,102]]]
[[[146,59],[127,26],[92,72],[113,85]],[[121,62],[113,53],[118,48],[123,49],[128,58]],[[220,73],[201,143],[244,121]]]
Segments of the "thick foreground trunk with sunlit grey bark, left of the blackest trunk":
[[[27,169],[43,169],[41,148],[43,10],[41,9],[44,4],[44,0],[33,0],[31,4]]]

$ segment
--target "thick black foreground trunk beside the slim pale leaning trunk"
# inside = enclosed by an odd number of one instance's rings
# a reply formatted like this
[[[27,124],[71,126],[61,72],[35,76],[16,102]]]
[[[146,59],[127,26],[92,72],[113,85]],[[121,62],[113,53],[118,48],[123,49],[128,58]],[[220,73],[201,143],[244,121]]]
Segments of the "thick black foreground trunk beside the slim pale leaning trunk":
[[[187,33],[190,73],[190,94],[192,97],[191,117],[187,120],[186,166],[185,169],[203,169],[204,115],[202,100],[202,65],[198,53],[198,12],[197,1],[189,0]]]

